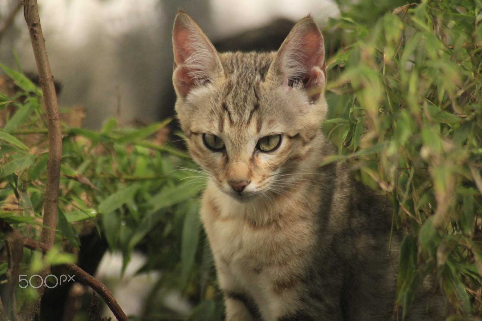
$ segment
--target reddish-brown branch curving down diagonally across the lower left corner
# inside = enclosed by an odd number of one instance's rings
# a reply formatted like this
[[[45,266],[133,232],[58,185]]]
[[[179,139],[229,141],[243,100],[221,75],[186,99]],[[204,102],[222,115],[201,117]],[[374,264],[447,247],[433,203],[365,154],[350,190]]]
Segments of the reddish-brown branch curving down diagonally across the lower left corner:
[[[22,241],[23,246],[31,249],[31,250],[41,250],[43,253],[46,253],[50,246],[47,246],[44,243],[31,239],[19,231],[14,230],[9,224],[7,224],[3,219],[0,218],[0,231],[4,232],[5,234],[13,234],[16,238],[19,238]],[[87,273],[86,271],[82,270],[75,264],[67,263],[67,269],[75,275],[75,278],[82,282],[83,284],[92,288],[102,299],[106,302],[107,306],[110,308],[114,316],[119,321],[128,321],[127,316],[125,315],[124,311],[120,308],[119,304],[117,303],[116,299],[107,287],[97,281],[92,275]]]

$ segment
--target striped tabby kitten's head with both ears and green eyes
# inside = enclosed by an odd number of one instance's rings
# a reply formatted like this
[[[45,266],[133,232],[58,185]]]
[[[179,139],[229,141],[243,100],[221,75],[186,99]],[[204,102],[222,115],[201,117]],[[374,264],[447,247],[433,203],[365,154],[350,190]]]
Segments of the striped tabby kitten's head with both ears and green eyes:
[[[299,21],[278,52],[218,53],[179,12],[173,47],[175,110],[189,152],[222,192],[246,202],[315,171],[327,106],[313,18]]]

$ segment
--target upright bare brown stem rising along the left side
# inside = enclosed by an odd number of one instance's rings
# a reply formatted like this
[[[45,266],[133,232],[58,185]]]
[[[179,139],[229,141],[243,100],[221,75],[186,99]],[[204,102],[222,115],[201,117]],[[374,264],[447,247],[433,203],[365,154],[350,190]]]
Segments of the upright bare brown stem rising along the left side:
[[[41,242],[50,248],[55,241],[55,228],[57,225],[57,203],[59,194],[60,163],[62,161],[62,128],[60,127],[59,108],[55,93],[54,77],[50,69],[45,39],[40,26],[40,17],[37,0],[24,0],[24,17],[27,22],[30,41],[39,73],[40,87],[43,94],[43,103],[47,112],[47,127],[49,137],[49,156],[47,161],[47,183],[45,188],[45,201],[43,206],[43,220]],[[40,272],[40,278],[45,278],[50,273],[50,266]],[[45,284],[37,289],[39,299],[24,306],[21,320],[31,321],[40,307],[40,300],[45,291]]]

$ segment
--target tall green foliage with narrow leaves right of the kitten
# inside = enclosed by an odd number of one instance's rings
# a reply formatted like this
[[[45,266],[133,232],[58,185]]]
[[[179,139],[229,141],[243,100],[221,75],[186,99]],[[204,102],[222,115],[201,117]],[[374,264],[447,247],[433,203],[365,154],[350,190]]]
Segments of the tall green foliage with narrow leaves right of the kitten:
[[[433,273],[457,314],[480,315],[482,2],[340,4],[323,124],[339,154],[324,161],[393,200],[399,305]]]

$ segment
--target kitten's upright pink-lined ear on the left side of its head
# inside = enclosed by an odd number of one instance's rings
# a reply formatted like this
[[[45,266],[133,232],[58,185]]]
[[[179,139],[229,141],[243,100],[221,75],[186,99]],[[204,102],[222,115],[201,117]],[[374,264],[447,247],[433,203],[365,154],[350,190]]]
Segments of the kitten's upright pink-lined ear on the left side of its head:
[[[223,75],[223,67],[213,44],[192,18],[179,11],[173,28],[173,83],[178,96]]]

